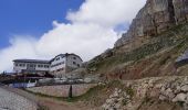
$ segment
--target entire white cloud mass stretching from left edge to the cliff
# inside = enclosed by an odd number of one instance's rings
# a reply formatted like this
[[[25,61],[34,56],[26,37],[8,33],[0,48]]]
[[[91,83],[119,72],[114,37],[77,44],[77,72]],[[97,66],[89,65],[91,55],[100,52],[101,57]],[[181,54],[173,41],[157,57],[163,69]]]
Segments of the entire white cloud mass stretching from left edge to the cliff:
[[[19,35],[0,50],[0,72],[11,70],[15,58],[52,58],[60,53],[75,53],[84,61],[113,47],[118,35],[146,0],[85,0],[77,11],[67,12],[70,23],[52,21],[53,29],[39,40]]]

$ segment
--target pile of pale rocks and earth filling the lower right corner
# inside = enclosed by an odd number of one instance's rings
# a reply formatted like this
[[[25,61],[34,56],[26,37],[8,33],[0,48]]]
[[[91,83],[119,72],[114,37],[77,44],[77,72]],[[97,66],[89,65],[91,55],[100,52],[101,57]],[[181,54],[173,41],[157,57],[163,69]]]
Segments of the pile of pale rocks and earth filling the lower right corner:
[[[188,77],[124,80],[101,106],[103,110],[188,110]],[[156,109],[155,109],[156,108]]]

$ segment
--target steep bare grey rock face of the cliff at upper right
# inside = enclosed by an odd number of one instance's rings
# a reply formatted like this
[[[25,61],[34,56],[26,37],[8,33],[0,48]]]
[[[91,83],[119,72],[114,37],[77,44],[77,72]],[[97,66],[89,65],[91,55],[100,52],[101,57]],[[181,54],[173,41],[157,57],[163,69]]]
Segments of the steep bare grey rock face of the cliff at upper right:
[[[123,46],[135,37],[154,36],[188,21],[188,0],[147,0],[127,33],[115,43]]]

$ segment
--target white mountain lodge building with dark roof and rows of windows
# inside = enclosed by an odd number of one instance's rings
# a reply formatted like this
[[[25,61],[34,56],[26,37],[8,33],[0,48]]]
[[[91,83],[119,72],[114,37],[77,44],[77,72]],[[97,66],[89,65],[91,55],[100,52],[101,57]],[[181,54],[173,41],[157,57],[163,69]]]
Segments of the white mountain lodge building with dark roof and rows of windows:
[[[82,58],[75,54],[60,54],[51,61],[41,59],[14,59],[13,72],[22,74],[50,73],[55,77],[62,77],[66,73],[82,66]]]

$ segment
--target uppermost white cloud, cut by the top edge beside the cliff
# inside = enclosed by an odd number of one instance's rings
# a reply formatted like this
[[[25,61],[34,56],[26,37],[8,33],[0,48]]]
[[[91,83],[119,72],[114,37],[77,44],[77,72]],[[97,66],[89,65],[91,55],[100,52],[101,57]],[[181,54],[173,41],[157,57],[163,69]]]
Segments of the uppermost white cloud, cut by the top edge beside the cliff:
[[[73,22],[116,26],[130,23],[145,2],[146,0],[86,0],[80,11],[70,12],[67,19]]]

